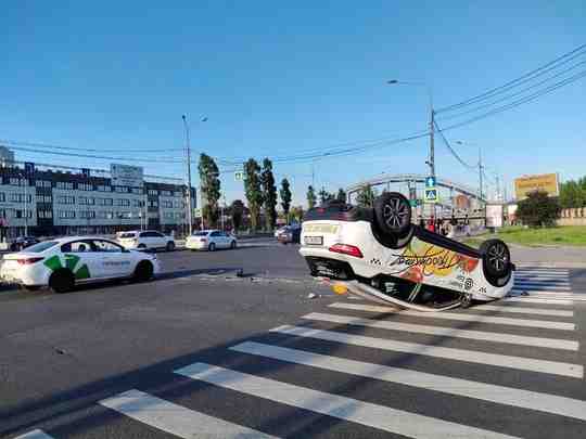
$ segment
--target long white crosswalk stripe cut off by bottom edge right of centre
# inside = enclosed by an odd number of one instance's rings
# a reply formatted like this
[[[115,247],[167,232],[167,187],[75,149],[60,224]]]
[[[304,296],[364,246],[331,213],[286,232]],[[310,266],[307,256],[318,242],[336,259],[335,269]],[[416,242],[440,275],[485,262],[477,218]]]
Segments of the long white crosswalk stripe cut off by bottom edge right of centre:
[[[205,363],[194,363],[175,372],[242,393],[411,438],[511,438],[511,436],[499,432],[280,383],[275,379],[262,378]]]

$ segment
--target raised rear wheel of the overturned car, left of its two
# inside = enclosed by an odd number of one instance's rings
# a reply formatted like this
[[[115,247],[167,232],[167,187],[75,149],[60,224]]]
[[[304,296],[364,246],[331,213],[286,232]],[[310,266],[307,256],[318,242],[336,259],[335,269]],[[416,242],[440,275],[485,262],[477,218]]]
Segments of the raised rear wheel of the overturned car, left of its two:
[[[402,236],[411,229],[411,206],[398,192],[386,192],[374,201],[379,228],[387,234]]]

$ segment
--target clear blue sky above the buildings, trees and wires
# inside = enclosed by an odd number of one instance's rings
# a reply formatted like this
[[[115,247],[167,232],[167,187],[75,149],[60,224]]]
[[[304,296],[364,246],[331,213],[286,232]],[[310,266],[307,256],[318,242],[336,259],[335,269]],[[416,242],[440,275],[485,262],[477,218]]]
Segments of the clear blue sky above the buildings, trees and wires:
[[[181,152],[163,150],[182,147],[182,114],[194,153],[216,157],[394,139],[425,129],[428,99],[423,88],[385,80],[424,81],[442,107],[586,42],[581,0],[357,4],[12,2],[0,16],[0,139],[103,150],[150,160],[141,164],[148,173],[181,177],[182,165],[163,163]],[[586,173],[585,96],[582,79],[446,135],[468,142],[454,146],[471,163],[481,146],[509,184],[523,173],[577,178]],[[420,139],[275,170],[292,180],[301,203],[311,166],[316,185],[334,191],[381,172],[425,172],[426,154]],[[99,168],[111,162],[16,155]],[[477,184],[440,140],[436,168],[440,177]],[[241,186],[222,176],[228,201],[243,196]]]

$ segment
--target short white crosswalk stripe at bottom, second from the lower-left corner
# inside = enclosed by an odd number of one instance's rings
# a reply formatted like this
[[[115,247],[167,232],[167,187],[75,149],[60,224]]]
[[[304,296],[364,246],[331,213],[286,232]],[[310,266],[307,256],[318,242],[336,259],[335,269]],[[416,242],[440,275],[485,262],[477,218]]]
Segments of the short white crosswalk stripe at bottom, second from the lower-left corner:
[[[100,404],[180,438],[199,435],[233,439],[275,438],[135,389],[104,399]]]

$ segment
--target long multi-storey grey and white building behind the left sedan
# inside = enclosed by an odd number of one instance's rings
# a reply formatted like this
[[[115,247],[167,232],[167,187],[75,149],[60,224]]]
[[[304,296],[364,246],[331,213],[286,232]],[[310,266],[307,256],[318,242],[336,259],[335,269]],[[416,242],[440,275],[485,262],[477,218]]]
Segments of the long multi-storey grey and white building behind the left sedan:
[[[143,176],[142,168],[123,165],[110,171],[10,165],[0,165],[0,225],[8,236],[143,228],[180,233],[187,227],[187,186],[180,179]],[[191,195],[195,208],[193,188]]]

